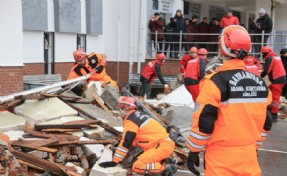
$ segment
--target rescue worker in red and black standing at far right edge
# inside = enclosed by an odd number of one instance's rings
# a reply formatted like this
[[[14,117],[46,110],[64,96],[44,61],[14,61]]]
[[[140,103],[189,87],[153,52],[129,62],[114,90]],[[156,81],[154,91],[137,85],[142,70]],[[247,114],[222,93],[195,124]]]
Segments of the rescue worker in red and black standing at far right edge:
[[[263,46],[261,48],[261,53],[265,59],[264,69],[261,73],[261,77],[264,78],[266,75],[268,75],[268,79],[271,82],[269,85],[269,89],[272,92],[271,113],[273,121],[277,122],[280,95],[286,83],[286,72],[281,58],[272,50],[272,48],[269,46]]]

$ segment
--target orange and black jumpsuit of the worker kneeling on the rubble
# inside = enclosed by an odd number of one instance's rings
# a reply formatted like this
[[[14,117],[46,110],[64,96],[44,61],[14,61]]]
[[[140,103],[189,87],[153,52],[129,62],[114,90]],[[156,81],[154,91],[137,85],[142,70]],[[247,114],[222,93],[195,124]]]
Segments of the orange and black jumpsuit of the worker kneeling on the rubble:
[[[128,113],[123,126],[123,137],[113,161],[120,163],[132,146],[139,146],[144,153],[138,156],[132,171],[140,174],[162,172],[165,165],[160,162],[172,154],[175,146],[166,129],[156,120],[135,110]]]

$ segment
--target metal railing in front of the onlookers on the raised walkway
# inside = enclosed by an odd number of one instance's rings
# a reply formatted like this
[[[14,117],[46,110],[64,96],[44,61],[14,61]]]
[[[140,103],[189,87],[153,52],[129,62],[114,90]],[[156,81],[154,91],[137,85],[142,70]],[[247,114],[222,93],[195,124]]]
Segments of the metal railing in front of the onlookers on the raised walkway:
[[[279,53],[280,49],[286,48],[287,46],[287,31],[275,31],[273,30],[271,33],[265,34],[264,31],[261,34],[250,34],[252,39],[252,47],[251,47],[251,55],[258,57],[260,60],[262,59],[262,55],[260,53],[260,48],[262,46],[268,45],[274,48],[275,52]],[[154,35],[154,40],[151,40],[151,35]],[[164,36],[173,36],[173,40],[159,40],[158,35]],[[208,50],[209,57],[218,55],[218,42],[200,42],[200,41],[185,41],[186,36],[192,35],[196,38],[200,36],[220,36],[218,33],[149,33],[150,40],[148,41],[148,53],[149,57],[155,57],[155,53],[163,52],[165,54],[171,55],[174,54],[174,57],[167,58],[180,58],[185,53],[189,52],[190,46],[202,47]],[[267,42],[264,41],[264,37],[268,37]],[[169,47],[166,48],[166,45]],[[173,46],[172,46],[173,45]],[[213,46],[212,46],[213,45]],[[159,47],[160,46],[160,47]],[[188,50],[186,51],[186,46],[188,46]],[[212,48],[214,47],[214,48]],[[169,49],[171,48],[171,49]],[[184,49],[185,48],[185,49]]]

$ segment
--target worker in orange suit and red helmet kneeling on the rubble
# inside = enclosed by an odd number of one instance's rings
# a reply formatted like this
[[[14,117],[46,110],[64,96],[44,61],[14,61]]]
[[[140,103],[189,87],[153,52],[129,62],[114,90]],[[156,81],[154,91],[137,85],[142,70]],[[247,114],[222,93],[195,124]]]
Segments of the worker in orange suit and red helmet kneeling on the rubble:
[[[123,118],[124,133],[113,156],[113,161],[100,163],[101,167],[114,167],[124,163],[125,159],[134,156],[132,171],[139,174],[169,175],[176,172],[176,166],[164,163],[163,160],[173,153],[175,143],[169,138],[166,129],[148,115],[136,111],[135,99],[120,97],[118,107]],[[134,147],[142,152],[130,152]],[[136,150],[134,150],[136,151]],[[123,164],[124,166],[124,164]]]

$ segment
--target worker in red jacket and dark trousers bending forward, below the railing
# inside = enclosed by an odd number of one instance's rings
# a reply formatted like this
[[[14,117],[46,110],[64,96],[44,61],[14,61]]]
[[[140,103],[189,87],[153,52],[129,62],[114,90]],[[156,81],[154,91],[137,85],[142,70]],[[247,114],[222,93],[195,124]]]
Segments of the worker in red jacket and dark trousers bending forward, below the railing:
[[[140,77],[140,82],[142,83],[141,93],[140,95],[146,98],[150,98],[151,94],[151,83],[155,80],[156,77],[160,80],[160,82],[164,85],[165,92],[170,92],[169,85],[165,82],[162,73],[161,66],[166,59],[163,53],[159,53],[156,55],[156,59],[154,61],[149,62],[145,68],[143,69]]]

